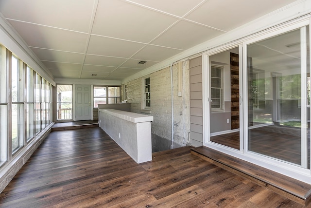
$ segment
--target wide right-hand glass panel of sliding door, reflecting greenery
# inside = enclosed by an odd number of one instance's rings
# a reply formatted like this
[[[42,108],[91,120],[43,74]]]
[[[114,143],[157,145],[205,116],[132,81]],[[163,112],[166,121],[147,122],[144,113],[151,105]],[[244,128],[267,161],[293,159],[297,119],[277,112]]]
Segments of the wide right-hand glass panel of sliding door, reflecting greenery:
[[[304,168],[310,164],[307,31],[247,45],[248,151]]]

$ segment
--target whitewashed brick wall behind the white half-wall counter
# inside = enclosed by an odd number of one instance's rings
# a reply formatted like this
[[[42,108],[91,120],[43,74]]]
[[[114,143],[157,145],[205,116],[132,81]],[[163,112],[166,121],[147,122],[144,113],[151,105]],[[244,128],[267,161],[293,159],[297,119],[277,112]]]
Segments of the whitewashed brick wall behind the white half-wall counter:
[[[179,62],[181,63],[181,62]],[[189,95],[189,61],[183,62],[183,70],[178,64],[173,65],[173,148],[185,146],[190,142],[190,95]],[[178,73],[183,74],[182,96],[178,96]],[[143,78],[127,83],[127,102],[131,103],[131,112],[142,113],[141,102]],[[151,122],[153,152],[171,148],[172,138],[172,105],[171,105],[171,73],[166,67],[150,74],[151,83],[151,113],[154,121]]]

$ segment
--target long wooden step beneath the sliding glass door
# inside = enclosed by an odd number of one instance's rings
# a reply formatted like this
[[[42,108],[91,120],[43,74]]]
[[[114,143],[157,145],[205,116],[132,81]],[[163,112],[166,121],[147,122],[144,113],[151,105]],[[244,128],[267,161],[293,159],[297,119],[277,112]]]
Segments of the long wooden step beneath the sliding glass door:
[[[191,153],[225,170],[242,175],[302,205],[308,205],[311,201],[310,184],[204,146],[191,149]]]

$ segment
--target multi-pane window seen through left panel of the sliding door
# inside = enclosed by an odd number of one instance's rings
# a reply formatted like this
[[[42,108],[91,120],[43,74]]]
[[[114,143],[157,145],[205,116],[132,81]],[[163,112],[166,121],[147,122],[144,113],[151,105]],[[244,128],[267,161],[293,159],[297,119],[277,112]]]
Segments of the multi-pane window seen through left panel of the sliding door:
[[[222,67],[211,66],[211,109],[212,111],[223,110],[222,108]]]

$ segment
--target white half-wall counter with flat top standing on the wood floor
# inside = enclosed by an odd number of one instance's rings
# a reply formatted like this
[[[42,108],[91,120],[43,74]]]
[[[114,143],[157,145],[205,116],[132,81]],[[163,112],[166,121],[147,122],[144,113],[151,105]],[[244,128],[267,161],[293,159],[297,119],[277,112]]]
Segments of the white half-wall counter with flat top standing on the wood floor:
[[[101,127],[135,162],[152,160],[153,116],[114,109],[99,109]]]

